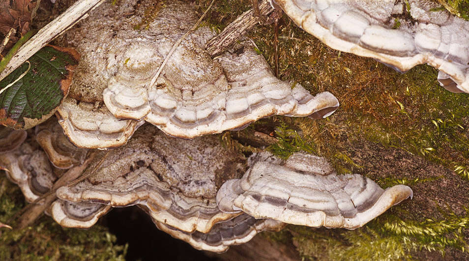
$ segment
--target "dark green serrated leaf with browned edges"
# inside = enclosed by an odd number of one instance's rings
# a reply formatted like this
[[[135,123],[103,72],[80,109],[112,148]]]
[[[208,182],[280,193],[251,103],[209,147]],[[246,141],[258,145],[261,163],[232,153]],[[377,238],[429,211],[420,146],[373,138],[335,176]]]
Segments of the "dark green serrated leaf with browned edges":
[[[28,129],[54,114],[68,93],[76,52],[46,46],[0,82],[0,124]],[[16,82],[15,82],[16,81]]]

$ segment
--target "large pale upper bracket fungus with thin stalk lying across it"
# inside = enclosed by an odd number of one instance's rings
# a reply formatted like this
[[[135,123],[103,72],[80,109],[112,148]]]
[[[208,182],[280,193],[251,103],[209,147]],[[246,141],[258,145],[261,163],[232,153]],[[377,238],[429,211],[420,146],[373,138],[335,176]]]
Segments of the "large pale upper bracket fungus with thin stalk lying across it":
[[[275,78],[263,56],[248,41],[211,58],[204,46],[214,33],[207,27],[195,30],[181,42],[156,84],[149,86],[173,44],[196,23],[197,16],[192,5],[168,2],[146,29],[136,30],[136,25],[145,23],[144,10],[151,3],[136,4],[139,8],[133,10],[135,2],[128,0],[119,7],[103,4],[80,28],[68,33],[71,44],[81,54],[70,96],[79,101],[86,97],[92,102],[88,107],[104,99],[117,118],[146,120],[169,135],[193,138],[239,129],[275,114],[322,118],[339,106],[329,92],[313,97],[303,87],[292,88]],[[95,40],[98,38],[99,42]],[[68,100],[59,110],[67,135],[87,128],[102,132],[88,122],[94,122],[92,117],[81,120],[86,122],[81,125],[72,117],[81,117],[81,113],[74,112],[74,107],[80,105]],[[125,129],[131,134],[128,125],[121,125],[120,132]],[[69,137],[77,145],[86,143],[85,138]],[[77,139],[83,142],[79,144]]]

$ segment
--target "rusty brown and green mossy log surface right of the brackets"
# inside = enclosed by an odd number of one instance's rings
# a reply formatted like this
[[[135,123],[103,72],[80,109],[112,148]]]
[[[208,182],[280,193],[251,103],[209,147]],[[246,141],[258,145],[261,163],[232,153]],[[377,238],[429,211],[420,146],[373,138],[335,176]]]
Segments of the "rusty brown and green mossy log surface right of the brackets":
[[[412,201],[391,208],[366,228],[290,229],[303,257],[425,259],[437,252],[467,258],[468,214],[461,208],[468,206],[461,202],[467,202],[468,195],[469,94],[440,87],[438,71],[431,66],[415,66],[402,74],[376,60],[332,50],[287,16],[282,20],[278,51],[273,27],[251,33],[259,51],[271,68],[278,63],[279,78],[300,83],[312,94],[330,91],[341,107],[321,120],[278,117],[283,125],[270,151],[285,158],[308,150],[330,159],[339,173],[368,175],[384,187],[406,184],[414,189]],[[439,207],[446,210],[436,211]],[[406,226],[451,229],[420,234],[392,229]]]

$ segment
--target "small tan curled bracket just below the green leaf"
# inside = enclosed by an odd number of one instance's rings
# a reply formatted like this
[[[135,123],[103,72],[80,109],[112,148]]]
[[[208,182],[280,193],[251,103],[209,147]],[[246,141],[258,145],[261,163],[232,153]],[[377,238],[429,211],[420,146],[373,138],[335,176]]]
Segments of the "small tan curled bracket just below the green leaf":
[[[55,118],[36,126],[36,133],[37,143],[46,152],[54,167],[69,169],[85,161],[88,150],[71,144]]]

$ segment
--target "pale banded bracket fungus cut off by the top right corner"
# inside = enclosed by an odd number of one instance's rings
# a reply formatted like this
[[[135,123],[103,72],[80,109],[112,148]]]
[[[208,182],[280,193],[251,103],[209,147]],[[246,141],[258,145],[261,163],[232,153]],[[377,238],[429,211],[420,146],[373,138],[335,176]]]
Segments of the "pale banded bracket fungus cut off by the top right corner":
[[[453,81],[455,85],[448,90],[469,92],[469,21],[436,11],[437,3],[273,1],[296,25],[333,49],[376,58],[400,71],[428,63],[449,76],[440,81],[443,87]]]

